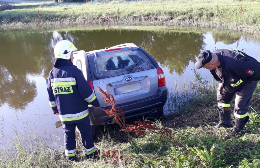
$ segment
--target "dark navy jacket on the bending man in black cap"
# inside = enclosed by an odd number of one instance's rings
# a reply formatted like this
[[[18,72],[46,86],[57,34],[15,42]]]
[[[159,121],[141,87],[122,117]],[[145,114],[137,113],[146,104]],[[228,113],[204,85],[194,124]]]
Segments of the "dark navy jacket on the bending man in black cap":
[[[255,58],[236,49],[219,49],[213,53],[220,61],[221,79],[215,69],[210,72],[227,92],[236,92],[246,82],[260,80],[260,63]]]

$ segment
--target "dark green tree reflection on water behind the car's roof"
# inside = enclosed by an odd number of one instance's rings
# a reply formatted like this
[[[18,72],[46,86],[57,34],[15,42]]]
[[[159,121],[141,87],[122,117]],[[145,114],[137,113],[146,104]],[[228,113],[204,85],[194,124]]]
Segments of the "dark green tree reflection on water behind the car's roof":
[[[91,32],[60,32],[63,39],[77,39],[75,46],[82,50],[95,50],[133,42],[144,48],[170,73],[181,75],[190,61],[195,61],[203,48],[203,33],[169,33],[151,31],[106,30]],[[68,38],[69,37],[69,38]]]

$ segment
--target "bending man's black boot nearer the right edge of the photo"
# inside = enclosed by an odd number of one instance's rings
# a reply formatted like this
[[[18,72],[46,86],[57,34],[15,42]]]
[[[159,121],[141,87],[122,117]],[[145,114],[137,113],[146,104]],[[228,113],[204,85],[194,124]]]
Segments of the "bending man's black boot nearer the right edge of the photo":
[[[228,135],[226,135],[226,138],[230,139],[233,135],[242,135],[242,133],[244,132],[244,126],[246,125],[248,120],[249,116],[246,116],[246,118],[242,119],[235,117],[234,127],[231,130],[231,132]]]

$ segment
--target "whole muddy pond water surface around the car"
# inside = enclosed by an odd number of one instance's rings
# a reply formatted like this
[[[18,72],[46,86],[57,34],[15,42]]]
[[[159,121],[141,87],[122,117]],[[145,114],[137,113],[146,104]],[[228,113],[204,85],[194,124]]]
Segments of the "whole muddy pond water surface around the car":
[[[193,77],[195,57],[200,50],[237,48],[251,56],[259,54],[257,40],[237,33],[156,30],[55,30],[55,31],[0,31],[0,146],[18,135],[30,134],[32,128],[47,143],[63,144],[62,127],[53,115],[47,99],[44,79],[54,63],[53,48],[60,40],[70,40],[79,50],[91,51],[133,42],[143,47],[163,68],[166,85],[176,79],[181,85]],[[260,52],[259,52],[260,53]],[[207,70],[199,70],[210,79]],[[28,130],[28,131],[26,131]],[[60,141],[59,141],[60,140]]]

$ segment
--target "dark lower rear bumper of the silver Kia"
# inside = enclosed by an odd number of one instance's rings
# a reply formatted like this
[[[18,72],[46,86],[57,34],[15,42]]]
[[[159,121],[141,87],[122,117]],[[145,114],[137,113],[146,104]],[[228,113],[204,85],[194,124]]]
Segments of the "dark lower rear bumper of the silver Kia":
[[[126,102],[123,104],[117,104],[121,107],[125,113],[125,119],[132,118],[144,114],[151,113],[152,109],[161,109],[164,107],[168,97],[168,88],[166,86],[159,87],[156,95],[135,100],[132,102]],[[95,108],[89,107],[89,117],[91,125],[101,125],[101,124],[112,124],[111,121],[113,117],[109,117],[103,109],[109,110],[109,107],[105,108]]]

